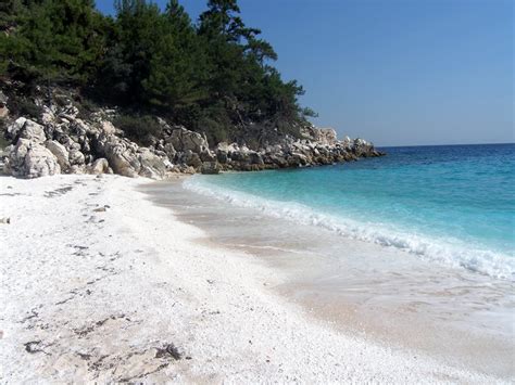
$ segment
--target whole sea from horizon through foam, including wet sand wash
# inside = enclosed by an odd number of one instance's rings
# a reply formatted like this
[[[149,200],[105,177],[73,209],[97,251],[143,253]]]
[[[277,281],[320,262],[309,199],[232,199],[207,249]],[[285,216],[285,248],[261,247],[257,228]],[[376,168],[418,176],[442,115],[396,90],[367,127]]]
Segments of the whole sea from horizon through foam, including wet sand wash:
[[[515,144],[380,150],[143,191],[317,322],[514,380]]]

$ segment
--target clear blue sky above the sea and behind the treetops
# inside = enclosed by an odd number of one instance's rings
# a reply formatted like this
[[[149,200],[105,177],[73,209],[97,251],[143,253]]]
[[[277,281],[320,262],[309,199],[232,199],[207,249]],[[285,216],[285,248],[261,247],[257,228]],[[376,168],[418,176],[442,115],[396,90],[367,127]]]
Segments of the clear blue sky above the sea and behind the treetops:
[[[206,4],[179,2],[194,21]],[[238,3],[315,125],[379,146],[515,142],[512,0]]]

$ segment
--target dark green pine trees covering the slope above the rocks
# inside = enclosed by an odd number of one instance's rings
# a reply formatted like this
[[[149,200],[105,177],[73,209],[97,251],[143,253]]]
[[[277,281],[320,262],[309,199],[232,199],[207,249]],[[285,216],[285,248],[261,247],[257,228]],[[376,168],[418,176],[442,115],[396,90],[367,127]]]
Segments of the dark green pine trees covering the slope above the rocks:
[[[147,115],[204,131],[212,143],[243,137],[258,144],[298,134],[312,114],[298,104],[302,88],[271,65],[277,54],[243,24],[236,0],[209,0],[197,23],[177,0],[164,11],[146,0],[115,5],[111,17],[92,0],[3,0],[0,74],[121,106],[133,117],[120,124],[143,141],[155,129]]]

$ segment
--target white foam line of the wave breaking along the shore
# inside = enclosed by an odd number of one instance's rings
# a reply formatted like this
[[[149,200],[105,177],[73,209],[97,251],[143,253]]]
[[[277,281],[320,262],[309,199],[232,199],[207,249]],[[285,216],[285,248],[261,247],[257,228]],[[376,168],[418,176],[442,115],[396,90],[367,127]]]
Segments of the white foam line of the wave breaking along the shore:
[[[497,279],[515,278],[515,258],[474,247],[453,238],[428,238],[410,233],[394,226],[356,221],[341,215],[329,215],[297,202],[279,202],[246,192],[229,190],[211,183],[202,176],[193,176],[184,188],[201,195],[224,201],[238,207],[256,209],[262,214],[296,223],[317,226],[348,239],[372,242],[385,247],[395,247],[431,262],[466,268]]]

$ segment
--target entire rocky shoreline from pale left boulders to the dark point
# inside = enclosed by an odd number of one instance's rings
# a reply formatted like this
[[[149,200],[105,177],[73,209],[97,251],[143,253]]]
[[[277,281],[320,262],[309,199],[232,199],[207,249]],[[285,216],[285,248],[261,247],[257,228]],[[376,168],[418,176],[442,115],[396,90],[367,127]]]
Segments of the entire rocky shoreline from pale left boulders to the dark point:
[[[115,111],[98,111],[84,119],[70,101],[41,107],[38,121],[18,117],[7,126],[5,137],[12,142],[3,155],[7,174],[37,178],[114,172],[164,179],[172,172],[305,167],[381,155],[362,139],[339,141],[335,130],[315,127],[304,128],[302,139],[285,136],[260,150],[225,142],[210,147],[205,134],[162,119],[162,137],[151,146],[140,146],[113,126]]]

